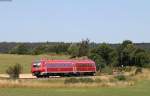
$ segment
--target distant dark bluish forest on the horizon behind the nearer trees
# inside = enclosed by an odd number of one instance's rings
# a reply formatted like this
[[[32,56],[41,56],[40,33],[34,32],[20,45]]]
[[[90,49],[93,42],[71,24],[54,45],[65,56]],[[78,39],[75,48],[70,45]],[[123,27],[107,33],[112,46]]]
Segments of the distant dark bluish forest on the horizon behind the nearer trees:
[[[73,43],[73,44],[79,44],[80,42]],[[37,47],[43,47],[43,46],[49,46],[52,47],[51,50],[48,50],[48,52],[52,51],[52,53],[55,53],[55,47],[59,45],[66,44],[68,47],[72,45],[72,43],[66,43],[66,42],[0,42],[0,53],[10,53],[10,50],[12,48],[18,46],[18,45],[24,45],[27,49],[29,49],[26,54],[32,54],[33,50]],[[89,42],[90,48],[94,48],[99,46],[101,43],[95,43],[95,42]],[[120,46],[120,44],[109,44],[112,48],[117,48]],[[150,52],[150,43],[134,43],[136,47],[142,48],[144,50],[147,50]],[[37,48],[38,49],[38,48]],[[47,49],[47,48],[46,48]],[[54,49],[54,50],[53,50]],[[67,49],[67,48],[66,48]],[[60,50],[61,51],[61,50]],[[67,52],[67,51],[66,51]],[[65,53],[66,53],[65,52]],[[59,50],[58,52],[59,53]],[[63,52],[62,52],[63,53]]]

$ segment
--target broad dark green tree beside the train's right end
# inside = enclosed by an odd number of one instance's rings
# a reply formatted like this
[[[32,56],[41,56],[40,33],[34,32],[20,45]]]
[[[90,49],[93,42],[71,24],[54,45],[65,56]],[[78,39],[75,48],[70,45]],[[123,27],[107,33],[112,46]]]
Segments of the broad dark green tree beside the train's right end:
[[[116,51],[106,43],[92,49],[89,58],[95,61],[98,71],[105,67],[111,68],[117,63]]]

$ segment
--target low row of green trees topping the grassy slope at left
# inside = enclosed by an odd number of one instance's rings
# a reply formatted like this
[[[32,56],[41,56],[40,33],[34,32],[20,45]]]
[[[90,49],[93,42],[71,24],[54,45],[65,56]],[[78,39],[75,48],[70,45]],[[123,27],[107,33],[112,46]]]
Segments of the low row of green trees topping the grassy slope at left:
[[[22,54],[22,55],[24,54],[40,55],[48,53],[67,54],[67,49],[69,45],[70,45],[69,43],[58,43],[54,45],[44,43],[36,47],[29,47],[28,45],[22,43],[11,48],[8,53]]]

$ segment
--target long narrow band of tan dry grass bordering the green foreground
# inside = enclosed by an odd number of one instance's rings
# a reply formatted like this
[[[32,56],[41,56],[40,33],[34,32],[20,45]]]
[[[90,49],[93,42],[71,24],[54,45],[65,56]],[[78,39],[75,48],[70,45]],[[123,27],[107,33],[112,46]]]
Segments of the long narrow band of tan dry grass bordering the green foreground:
[[[134,82],[101,82],[101,83],[42,83],[19,80],[0,80],[0,88],[88,88],[88,87],[125,87],[134,85]]]

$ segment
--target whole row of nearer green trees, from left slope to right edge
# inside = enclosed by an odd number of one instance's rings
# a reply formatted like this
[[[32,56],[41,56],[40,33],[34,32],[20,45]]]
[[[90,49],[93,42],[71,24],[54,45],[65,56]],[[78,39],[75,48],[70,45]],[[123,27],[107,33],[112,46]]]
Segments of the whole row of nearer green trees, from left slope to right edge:
[[[150,66],[149,48],[142,48],[130,40],[121,44],[96,44],[90,40],[82,40],[77,43],[40,43],[37,46],[29,46],[28,43],[19,43],[9,49],[10,54],[68,54],[70,58],[88,57],[96,62],[97,70],[103,68],[124,66]]]

